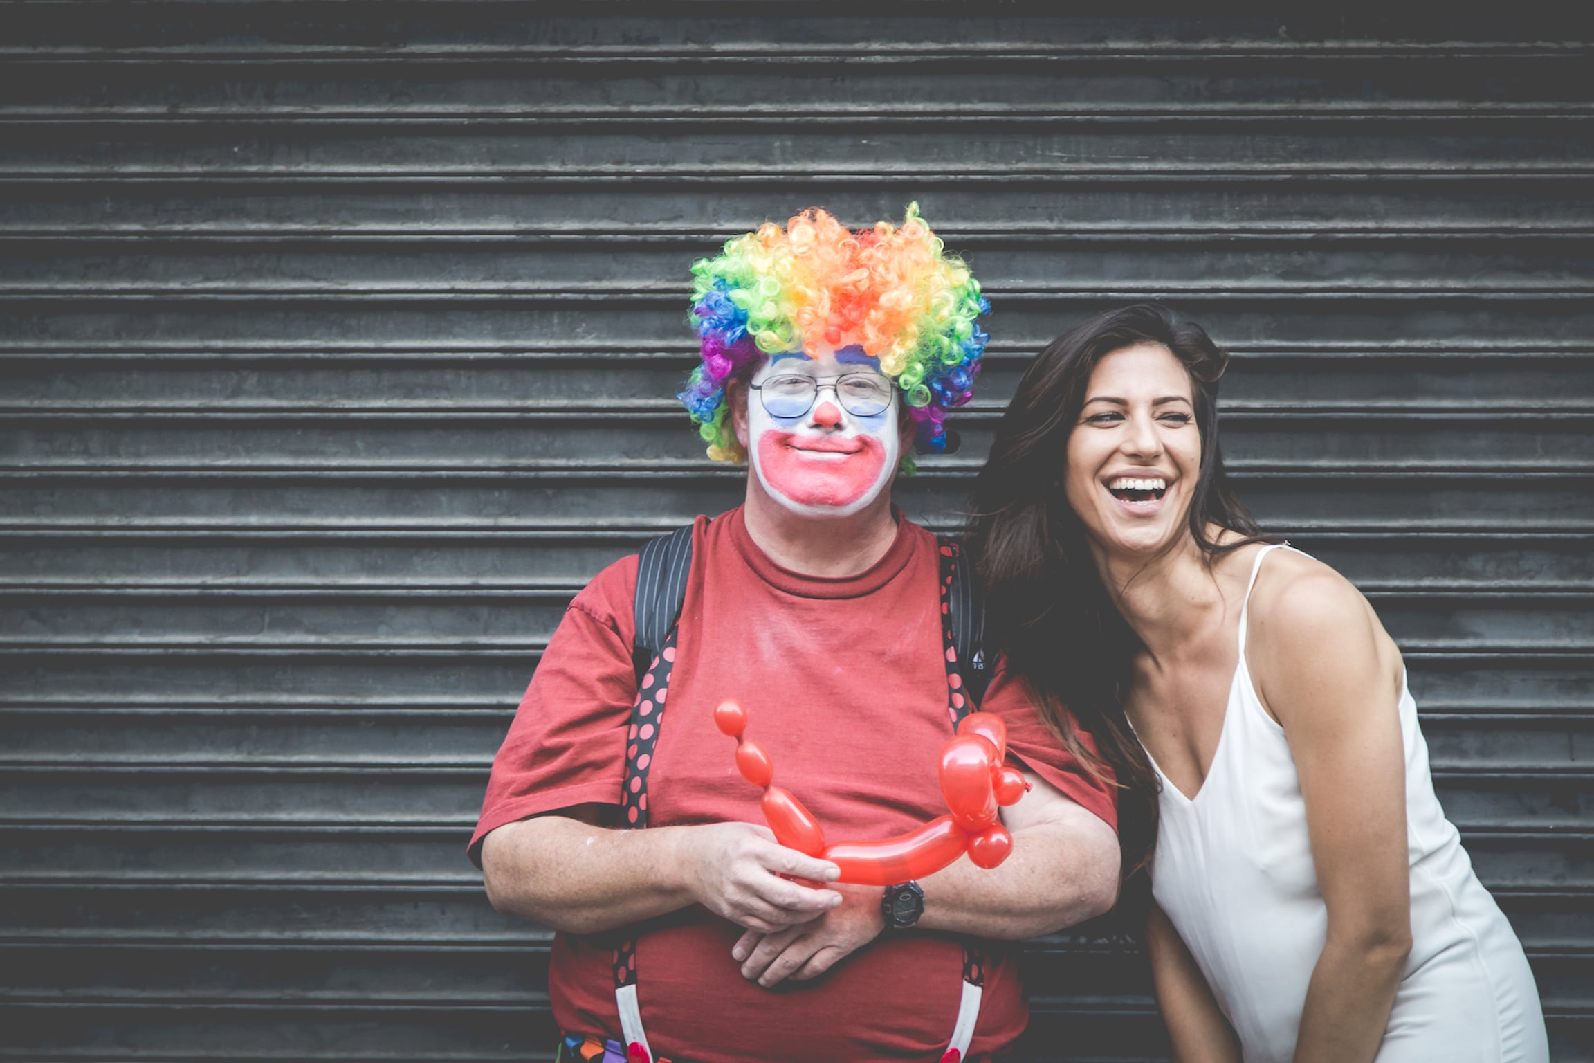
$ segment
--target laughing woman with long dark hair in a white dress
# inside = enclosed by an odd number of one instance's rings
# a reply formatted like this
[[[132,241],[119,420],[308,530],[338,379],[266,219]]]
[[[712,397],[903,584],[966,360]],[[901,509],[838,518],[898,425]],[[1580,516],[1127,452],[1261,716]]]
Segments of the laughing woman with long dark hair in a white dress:
[[[1227,486],[1226,362],[1159,306],[1058,338],[1001,422],[969,543],[1009,669],[1127,787],[1173,1055],[1548,1060],[1522,947],[1435,798],[1400,650]]]

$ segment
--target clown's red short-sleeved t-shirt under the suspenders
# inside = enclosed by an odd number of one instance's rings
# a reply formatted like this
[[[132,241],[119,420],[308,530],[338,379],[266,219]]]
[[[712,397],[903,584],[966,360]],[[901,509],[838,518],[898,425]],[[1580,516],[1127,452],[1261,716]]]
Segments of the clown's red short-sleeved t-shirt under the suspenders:
[[[886,838],[947,811],[936,778],[952,735],[942,663],[939,551],[901,520],[886,555],[845,579],[799,575],[754,545],[741,510],[698,518],[668,711],[649,775],[657,827],[764,822],[713,709],[735,698],[775,779],[832,841]],[[620,805],[636,558],[571,602],[493,763],[470,841],[507,822],[582,803]],[[1009,752],[1117,826],[1113,790],[1084,771],[999,673],[980,706],[1007,724]],[[1023,845],[1020,840],[1019,845]],[[811,982],[775,990],[741,977],[740,928],[692,907],[636,943],[638,999],[657,1055],[693,1063],[939,1060],[963,982],[953,936],[878,939]],[[620,1038],[612,939],[556,934],[548,975],[567,1033]],[[1007,1047],[1028,1018],[1012,947],[991,943],[969,1058]]]

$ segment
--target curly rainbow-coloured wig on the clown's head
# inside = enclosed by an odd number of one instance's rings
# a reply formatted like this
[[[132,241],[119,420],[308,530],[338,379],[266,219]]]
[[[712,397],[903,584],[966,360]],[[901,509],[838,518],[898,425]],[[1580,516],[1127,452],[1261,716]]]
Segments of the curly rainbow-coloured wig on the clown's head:
[[[837,346],[846,336],[902,389],[918,426],[915,449],[947,451],[947,410],[974,389],[990,338],[980,284],[909,204],[901,228],[880,222],[851,233],[819,209],[786,228],[765,222],[692,266],[692,319],[703,362],[677,395],[714,461],[743,461],[725,416],[725,384],[762,359]],[[955,437],[953,437],[955,438]],[[912,472],[912,461],[904,461]]]

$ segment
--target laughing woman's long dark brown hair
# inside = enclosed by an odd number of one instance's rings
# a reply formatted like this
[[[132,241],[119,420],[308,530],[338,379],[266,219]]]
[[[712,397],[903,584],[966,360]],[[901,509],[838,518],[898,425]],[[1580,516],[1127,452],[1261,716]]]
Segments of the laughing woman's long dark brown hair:
[[[1063,492],[1068,435],[1079,422],[1090,373],[1103,357],[1154,343],[1191,376],[1200,472],[1191,492],[1189,534],[1208,559],[1261,539],[1229,488],[1218,448],[1218,379],[1229,354],[1196,324],[1152,303],[1092,317],[1054,339],[1025,371],[990,459],[974,486],[968,548],[987,585],[987,630],[1007,655],[1046,722],[1097,775],[1121,787],[1119,848],[1125,894],[1144,897],[1157,838],[1157,776],[1124,716],[1141,642],[1119,614]],[[1234,535],[1218,542],[1210,529]],[[1095,739],[1092,752],[1079,730]],[[1140,886],[1140,888],[1135,888]]]

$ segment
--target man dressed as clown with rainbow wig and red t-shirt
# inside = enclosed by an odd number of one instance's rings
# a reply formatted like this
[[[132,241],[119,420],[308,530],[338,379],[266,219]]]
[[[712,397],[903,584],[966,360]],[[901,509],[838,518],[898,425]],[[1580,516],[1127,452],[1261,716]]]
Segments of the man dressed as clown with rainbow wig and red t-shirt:
[[[493,765],[470,856],[494,907],[552,926],[561,1060],[985,1060],[1028,1012],[1011,942],[1111,907],[1111,779],[998,666],[982,704],[1031,792],[1012,854],[858,886],[775,841],[716,730],[746,708],[832,838],[944,814],[960,712],[942,548],[891,504],[947,448],[988,311],[910,207],[848,231],[767,223],[693,266],[701,362],[681,400],[743,505],[700,516],[679,620],[639,674],[638,558],[571,602]],[[1089,736],[1084,736],[1089,741]],[[639,829],[639,827],[647,827]]]

